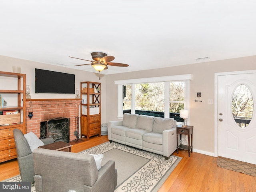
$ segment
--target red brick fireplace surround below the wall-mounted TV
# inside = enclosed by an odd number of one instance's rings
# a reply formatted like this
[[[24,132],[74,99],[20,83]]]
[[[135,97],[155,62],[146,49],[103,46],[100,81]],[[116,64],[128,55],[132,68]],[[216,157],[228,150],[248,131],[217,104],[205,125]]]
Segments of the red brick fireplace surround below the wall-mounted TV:
[[[28,99],[26,100],[26,132],[40,137],[40,123],[56,118],[70,118],[70,141],[76,139],[76,118],[81,99]],[[33,112],[33,117],[28,117]]]

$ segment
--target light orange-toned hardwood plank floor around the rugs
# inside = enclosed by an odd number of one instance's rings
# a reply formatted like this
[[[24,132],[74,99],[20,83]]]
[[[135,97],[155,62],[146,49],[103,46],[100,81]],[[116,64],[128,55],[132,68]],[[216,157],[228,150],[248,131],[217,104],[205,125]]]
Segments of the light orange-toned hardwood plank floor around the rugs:
[[[73,141],[72,152],[80,152],[108,141],[107,136]],[[217,158],[199,153],[179,151],[173,155],[182,160],[158,192],[253,192],[256,177],[219,168]],[[17,160],[0,163],[0,181],[20,174]]]

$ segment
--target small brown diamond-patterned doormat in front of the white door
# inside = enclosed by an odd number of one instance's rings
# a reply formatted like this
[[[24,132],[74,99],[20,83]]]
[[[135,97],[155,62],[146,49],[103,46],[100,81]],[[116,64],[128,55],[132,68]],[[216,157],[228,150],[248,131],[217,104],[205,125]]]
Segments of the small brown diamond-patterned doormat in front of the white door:
[[[256,177],[256,165],[237,161],[234,159],[228,159],[223,157],[218,157],[217,165],[221,168],[228,170],[244,173]]]

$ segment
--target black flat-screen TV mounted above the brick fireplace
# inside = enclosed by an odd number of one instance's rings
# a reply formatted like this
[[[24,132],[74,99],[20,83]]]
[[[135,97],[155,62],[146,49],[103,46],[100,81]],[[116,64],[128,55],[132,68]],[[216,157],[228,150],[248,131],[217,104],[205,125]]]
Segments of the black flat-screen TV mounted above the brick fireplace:
[[[36,69],[35,93],[75,94],[75,75]]]

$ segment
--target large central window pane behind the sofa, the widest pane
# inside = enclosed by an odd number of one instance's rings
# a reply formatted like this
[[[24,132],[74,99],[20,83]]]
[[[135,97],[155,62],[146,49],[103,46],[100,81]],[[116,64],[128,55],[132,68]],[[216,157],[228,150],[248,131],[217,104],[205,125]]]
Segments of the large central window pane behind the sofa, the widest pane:
[[[135,110],[137,114],[164,116],[164,83],[135,85]]]

